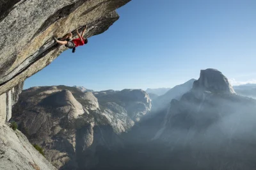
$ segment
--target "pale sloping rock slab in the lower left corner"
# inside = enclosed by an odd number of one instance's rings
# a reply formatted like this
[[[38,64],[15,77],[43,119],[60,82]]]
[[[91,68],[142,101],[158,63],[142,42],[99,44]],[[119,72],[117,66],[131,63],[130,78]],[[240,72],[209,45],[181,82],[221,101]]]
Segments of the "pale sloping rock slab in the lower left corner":
[[[55,170],[19,130],[8,125],[0,127],[0,169]]]

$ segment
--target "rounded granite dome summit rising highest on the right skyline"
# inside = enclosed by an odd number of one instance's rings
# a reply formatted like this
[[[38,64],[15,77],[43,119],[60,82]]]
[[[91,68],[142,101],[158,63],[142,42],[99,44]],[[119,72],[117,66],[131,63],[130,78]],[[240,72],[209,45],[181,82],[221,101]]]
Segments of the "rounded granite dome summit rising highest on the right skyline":
[[[200,78],[194,82],[193,89],[200,89],[216,93],[236,93],[227,77],[215,69],[201,70]]]

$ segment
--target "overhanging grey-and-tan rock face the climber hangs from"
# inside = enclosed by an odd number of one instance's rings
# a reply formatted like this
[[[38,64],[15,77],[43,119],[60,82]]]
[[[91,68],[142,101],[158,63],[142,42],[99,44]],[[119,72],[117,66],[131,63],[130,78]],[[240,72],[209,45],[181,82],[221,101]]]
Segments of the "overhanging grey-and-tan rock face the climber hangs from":
[[[6,116],[11,114],[5,111],[4,105],[6,108],[12,105],[9,102],[12,89],[67,49],[58,47],[52,36],[74,33],[77,28],[81,31],[86,24],[85,38],[103,33],[119,18],[116,8],[129,1],[1,1],[0,123],[10,118]]]

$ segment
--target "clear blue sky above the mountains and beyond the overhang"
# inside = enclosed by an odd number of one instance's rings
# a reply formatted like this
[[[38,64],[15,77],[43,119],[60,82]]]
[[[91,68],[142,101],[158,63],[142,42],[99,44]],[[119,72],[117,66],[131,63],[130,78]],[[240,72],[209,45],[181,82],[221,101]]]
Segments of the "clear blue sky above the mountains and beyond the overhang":
[[[233,84],[256,82],[255,9],[255,0],[133,0],[108,31],[63,52],[24,88],[171,88],[205,68]]]

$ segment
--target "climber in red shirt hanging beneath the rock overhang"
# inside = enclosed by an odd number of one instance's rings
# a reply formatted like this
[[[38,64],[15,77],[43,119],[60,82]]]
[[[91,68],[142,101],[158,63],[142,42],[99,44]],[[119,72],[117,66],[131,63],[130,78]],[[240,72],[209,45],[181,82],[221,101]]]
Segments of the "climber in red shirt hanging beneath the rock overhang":
[[[87,28],[87,26],[84,27],[82,35],[80,35],[79,32],[76,29],[76,33],[77,33],[79,38],[76,38],[76,39],[72,40],[72,33],[67,33],[67,35],[63,36],[62,38],[55,38],[53,36],[53,39],[56,43],[58,43],[60,45],[65,45],[69,49],[73,49],[72,52],[75,52],[76,47],[88,43],[87,38],[86,39],[83,38],[84,33],[86,31],[86,28]]]

